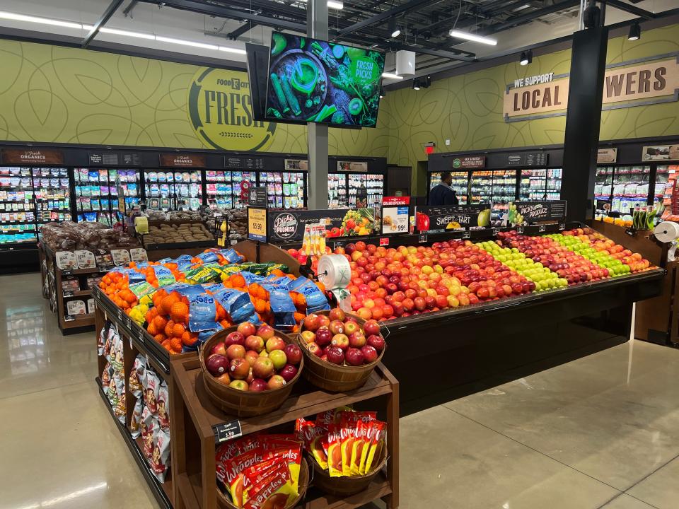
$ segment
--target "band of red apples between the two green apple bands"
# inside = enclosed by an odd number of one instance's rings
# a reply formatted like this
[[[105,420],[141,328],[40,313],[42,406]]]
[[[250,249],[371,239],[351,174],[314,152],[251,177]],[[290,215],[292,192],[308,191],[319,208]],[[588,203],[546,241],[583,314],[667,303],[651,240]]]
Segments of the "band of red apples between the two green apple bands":
[[[499,242],[505,247],[516,248],[533,262],[539,262],[569,285],[596,281],[610,276],[608,269],[599,267],[590,260],[560,245],[549,235],[530,237],[516,231],[499,232]]]

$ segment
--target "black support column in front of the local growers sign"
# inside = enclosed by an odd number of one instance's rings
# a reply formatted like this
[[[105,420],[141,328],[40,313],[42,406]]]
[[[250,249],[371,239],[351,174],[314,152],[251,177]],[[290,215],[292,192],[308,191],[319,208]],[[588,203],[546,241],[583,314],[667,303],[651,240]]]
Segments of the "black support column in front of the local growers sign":
[[[573,35],[561,184],[561,198],[568,201],[568,221],[593,218],[607,47],[606,27],[587,28]]]

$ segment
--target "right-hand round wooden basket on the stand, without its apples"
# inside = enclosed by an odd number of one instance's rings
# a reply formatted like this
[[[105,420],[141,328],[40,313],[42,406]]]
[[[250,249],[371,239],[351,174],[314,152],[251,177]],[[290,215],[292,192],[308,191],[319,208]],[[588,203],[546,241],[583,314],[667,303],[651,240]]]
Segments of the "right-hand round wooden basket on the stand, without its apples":
[[[316,315],[328,315],[330,311],[318,311]],[[366,320],[354,315],[353,313],[347,313],[347,316],[354,317],[356,322],[363,328]],[[303,327],[300,327],[299,332],[303,331]],[[330,392],[344,392],[349,390],[354,390],[358,387],[364,385],[368,378],[370,378],[373,369],[382,360],[384,352],[387,350],[386,346],[376,361],[370,364],[364,364],[361,366],[349,366],[349,365],[337,365],[326,361],[321,361],[320,358],[313,355],[306,347],[306,342],[302,339],[301,335],[297,336],[297,343],[304,353],[304,361],[306,361],[306,368],[304,369],[304,378],[311,382],[316,387],[320,387],[323,390]],[[335,478],[333,478],[335,479]]]

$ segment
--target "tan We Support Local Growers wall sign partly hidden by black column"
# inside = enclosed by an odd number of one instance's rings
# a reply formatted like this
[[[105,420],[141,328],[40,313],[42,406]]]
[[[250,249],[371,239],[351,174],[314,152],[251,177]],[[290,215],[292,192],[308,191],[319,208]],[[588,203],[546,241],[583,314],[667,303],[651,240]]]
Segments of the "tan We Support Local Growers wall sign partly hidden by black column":
[[[620,62],[607,68],[602,110],[679,100],[678,54]],[[514,80],[504,93],[505,122],[566,115],[568,87],[568,74],[547,73]]]

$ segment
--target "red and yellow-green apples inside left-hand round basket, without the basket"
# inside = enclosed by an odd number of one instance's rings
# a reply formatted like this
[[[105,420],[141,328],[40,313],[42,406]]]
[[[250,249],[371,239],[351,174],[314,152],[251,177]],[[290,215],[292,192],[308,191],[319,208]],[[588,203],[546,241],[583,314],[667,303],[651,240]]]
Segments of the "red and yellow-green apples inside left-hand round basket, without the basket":
[[[260,392],[283,387],[298,372],[302,351],[286,344],[268,324],[243,322],[219,341],[205,361],[209,373],[237,390]]]

